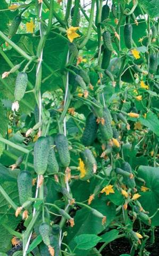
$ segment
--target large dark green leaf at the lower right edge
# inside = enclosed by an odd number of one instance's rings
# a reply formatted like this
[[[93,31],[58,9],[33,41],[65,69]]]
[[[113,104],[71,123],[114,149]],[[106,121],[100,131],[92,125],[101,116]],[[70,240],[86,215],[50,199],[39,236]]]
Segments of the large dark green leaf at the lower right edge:
[[[159,207],[159,167],[141,165],[138,169],[138,177],[145,180],[146,192],[139,192],[139,201],[145,211],[152,216]],[[159,213],[152,218],[152,225],[159,226]]]

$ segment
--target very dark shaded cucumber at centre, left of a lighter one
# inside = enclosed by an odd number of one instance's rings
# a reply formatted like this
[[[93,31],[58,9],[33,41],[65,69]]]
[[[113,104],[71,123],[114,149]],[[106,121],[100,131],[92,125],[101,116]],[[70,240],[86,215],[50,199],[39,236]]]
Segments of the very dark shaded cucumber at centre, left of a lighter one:
[[[90,146],[96,139],[98,124],[96,122],[96,117],[93,113],[90,113],[86,119],[85,130],[82,135],[82,143],[84,146]]]

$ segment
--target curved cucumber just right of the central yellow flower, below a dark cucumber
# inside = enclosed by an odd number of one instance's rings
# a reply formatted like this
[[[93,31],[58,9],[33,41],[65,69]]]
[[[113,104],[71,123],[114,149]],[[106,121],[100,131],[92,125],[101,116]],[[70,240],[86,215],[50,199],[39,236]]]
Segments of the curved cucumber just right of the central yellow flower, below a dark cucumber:
[[[80,157],[85,164],[85,170],[86,170],[86,175],[85,177],[81,178],[81,180],[88,180],[91,177],[93,177],[94,172],[96,171],[97,168],[97,163],[94,155],[91,153],[89,149],[85,149],[80,153]]]

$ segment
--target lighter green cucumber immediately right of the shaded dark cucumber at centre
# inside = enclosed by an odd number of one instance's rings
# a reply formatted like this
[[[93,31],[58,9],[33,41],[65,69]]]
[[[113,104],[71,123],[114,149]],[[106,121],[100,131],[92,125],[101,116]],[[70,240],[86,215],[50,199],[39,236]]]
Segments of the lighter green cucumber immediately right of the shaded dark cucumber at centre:
[[[113,138],[113,130],[111,126],[111,117],[108,111],[103,111],[103,118],[105,123],[99,123],[99,130],[101,131],[104,140],[110,140]]]

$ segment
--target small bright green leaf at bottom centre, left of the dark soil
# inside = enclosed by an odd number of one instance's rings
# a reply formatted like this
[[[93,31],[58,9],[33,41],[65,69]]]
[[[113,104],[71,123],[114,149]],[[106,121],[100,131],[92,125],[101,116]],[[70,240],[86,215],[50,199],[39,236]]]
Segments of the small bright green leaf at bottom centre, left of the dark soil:
[[[82,234],[74,238],[74,241],[77,243],[77,248],[81,250],[93,248],[100,240],[101,238],[94,234]]]

